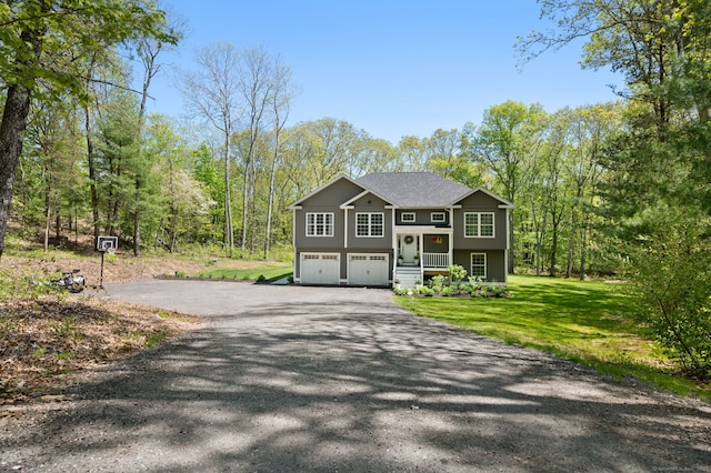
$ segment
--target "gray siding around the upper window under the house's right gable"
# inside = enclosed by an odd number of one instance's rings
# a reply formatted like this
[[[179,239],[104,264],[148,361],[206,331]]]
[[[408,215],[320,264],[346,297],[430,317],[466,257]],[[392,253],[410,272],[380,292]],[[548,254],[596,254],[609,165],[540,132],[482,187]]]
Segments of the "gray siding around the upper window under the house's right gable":
[[[462,200],[461,209],[454,210],[454,248],[467,250],[505,250],[507,241],[507,211],[499,209],[501,202],[484,192],[474,192]],[[467,238],[464,236],[464,213],[493,212],[494,238]]]

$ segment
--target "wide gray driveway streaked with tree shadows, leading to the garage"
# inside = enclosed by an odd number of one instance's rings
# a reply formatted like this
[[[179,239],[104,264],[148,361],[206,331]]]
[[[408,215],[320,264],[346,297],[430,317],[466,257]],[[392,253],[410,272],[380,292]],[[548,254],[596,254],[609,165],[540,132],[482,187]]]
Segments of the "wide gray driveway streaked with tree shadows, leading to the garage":
[[[209,322],[0,419],[0,471],[711,471],[711,406],[397,308],[388,291],[150,281]]]

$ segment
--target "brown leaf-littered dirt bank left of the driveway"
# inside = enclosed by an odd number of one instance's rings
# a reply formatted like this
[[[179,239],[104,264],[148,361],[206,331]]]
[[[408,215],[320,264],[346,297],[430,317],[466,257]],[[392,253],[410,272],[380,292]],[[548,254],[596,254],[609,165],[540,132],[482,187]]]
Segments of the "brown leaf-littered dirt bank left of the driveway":
[[[33,253],[36,254],[36,253]],[[88,254],[91,254],[88,252]],[[107,258],[103,284],[186,274],[207,268],[249,268],[253,262],[208,258]],[[128,356],[200,324],[199,318],[154,308],[108,301],[101,295],[101,255],[52,251],[23,256],[3,255],[0,271],[16,284],[47,281],[62,271],[80,269],[88,289],[81,294],[6,294],[0,300],[0,420],[11,415],[3,405],[57,395],[87,369]]]

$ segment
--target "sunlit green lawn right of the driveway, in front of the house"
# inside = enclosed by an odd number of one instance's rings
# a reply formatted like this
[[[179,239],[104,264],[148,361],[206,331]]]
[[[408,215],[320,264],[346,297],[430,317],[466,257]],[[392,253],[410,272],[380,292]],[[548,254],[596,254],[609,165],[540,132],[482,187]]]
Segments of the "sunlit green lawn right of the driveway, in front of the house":
[[[677,394],[711,399],[711,386],[674,374],[644,328],[625,318],[619,285],[510,276],[510,299],[395,298],[403,308],[510,344],[633,376]]]

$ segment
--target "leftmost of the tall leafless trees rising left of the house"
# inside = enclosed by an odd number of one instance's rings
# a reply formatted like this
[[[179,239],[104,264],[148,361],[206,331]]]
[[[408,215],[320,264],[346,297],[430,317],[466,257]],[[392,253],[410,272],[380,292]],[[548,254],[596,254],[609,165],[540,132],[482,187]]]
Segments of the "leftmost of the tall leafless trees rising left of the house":
[[[230,43],[217,42],[196,51],[197,71],[181,74],[180,89],[193,117],[202,117],[220,131],[224,158],[224,243],[232,256],[234,231],[230,195],[230,137],[239,118],[242,81],[239,77],[240,53]]]

